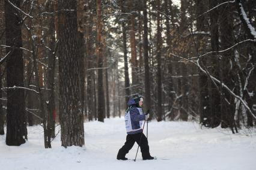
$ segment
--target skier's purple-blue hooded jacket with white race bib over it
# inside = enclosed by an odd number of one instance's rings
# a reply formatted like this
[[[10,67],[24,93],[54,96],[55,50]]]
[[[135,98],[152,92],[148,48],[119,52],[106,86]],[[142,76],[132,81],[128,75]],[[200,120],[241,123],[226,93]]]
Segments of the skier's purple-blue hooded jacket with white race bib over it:
[[[142,112],[142,108],[136,106],[136,102],[132,98],[129,99],[127,105],[129,108],[124,116],[127,134],[141,133],[145,114]]]

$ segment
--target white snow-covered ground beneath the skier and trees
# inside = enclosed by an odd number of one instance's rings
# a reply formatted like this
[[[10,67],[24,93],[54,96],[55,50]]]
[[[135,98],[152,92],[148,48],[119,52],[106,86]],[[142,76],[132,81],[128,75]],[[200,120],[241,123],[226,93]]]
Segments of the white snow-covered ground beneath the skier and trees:
[[[59,126],[58,126],[59,127]],[[0,169],[255,169],[256,135],[232,135],[230,130],[201,129],[192,122],[150,122],[150,153],[157,160],[136,162],[116,160],[124,144],[124,118],[105,119],[105,123],[87,122],[84,147],[61,147],[60,135],[52,149],[44,149],[43,129],[28,127],[29,140],[20,147],[5,145],[0,136]],[[56,129],[58,131],[58,128]],[[134,159],[138,145],[126,155]]]

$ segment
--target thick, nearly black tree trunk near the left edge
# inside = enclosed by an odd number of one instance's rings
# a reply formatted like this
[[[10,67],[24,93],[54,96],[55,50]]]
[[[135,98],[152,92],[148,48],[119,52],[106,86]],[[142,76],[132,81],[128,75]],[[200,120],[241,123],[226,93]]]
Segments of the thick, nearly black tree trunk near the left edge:
[[[20,8],[20,1],[10,1]],[[6,45],[10,45],[7,59],[7,87],[24,87],[22,35],[19,14],[8,2],[5,3]],[[7,51],[8,53],[9,51]],[[21,145],[27,139],[25,98],[23,89],[7,90],[7,145]]]

